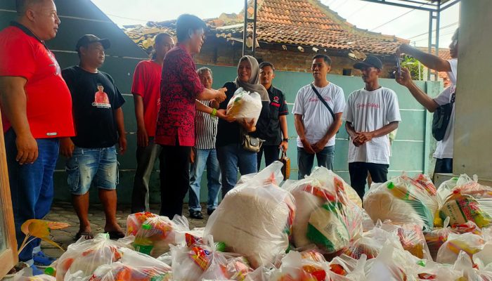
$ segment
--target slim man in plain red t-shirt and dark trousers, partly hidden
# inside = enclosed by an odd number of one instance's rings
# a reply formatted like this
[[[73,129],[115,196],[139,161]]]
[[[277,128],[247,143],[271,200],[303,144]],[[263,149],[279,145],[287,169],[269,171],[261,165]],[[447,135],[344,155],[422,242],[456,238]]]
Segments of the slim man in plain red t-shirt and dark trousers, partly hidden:
[[[136,65],[134,83],[135,117],[137,124],[136,172],[134,191],[131,195],[131,212],[150,211],[148,204],[148,183],[155,160],[161,152],[160,145],[154,143],[157,112],[160,107],[160,77],[162,62],[167,51],[174,47],[174,40],[167,33],[154,38],[154,52],[151,60],[143,60]]]

